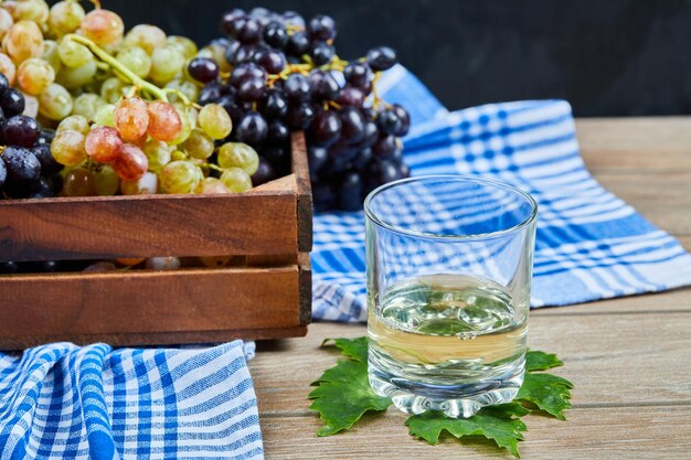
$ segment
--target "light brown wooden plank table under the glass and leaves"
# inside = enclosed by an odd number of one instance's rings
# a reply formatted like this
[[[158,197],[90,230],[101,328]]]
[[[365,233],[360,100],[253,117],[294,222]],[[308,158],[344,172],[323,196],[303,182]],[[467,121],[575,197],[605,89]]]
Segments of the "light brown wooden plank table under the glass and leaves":
[[[691,118],[584,119],[577,130],[600,183],[691,249]],[[317,438],[309,383],[336,361],[319,345],[364,334],[318,323],[306,339],[259,345],[249,367],[267,459],[510,458],[489,443],[415,440],[394,408]],[[533,311],[529,344],[557,353],[556,373],[576,387],[568,421],[530,417],[523,458],[691,459],[691,289]]]

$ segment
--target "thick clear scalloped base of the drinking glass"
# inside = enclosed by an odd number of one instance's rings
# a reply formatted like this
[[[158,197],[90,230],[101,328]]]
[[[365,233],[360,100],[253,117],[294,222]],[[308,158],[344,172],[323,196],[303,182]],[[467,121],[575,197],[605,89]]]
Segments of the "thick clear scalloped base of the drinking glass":
[[[467,418],[485,406],[510,403],[523,384],[524,361],[491,379],[456,385],[433,385],[392,375],[369,363],[370,386],[390,397],[406,414],[439,410],[451,418]]]

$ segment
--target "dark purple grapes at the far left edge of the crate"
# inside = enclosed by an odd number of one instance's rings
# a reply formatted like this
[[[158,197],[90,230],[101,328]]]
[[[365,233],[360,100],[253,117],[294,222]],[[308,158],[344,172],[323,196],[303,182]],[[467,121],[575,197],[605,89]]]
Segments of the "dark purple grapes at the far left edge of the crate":
[[[24,111],[24,96],[0,74],[0,197],[43,199],[62,188],[63,169],[51,153],[52,130]]]

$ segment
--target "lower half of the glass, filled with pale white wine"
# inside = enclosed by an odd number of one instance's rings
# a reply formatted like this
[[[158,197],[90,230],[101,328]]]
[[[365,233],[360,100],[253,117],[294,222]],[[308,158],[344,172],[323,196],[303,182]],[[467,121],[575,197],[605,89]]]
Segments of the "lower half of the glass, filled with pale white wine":
[[[370,299],[372,386],[386,396],[434,389],[446,402],[482,394],[478,408],[511,400],[523,377],[527,312],[481,278],[428,275],[395,284],[379,304]]]

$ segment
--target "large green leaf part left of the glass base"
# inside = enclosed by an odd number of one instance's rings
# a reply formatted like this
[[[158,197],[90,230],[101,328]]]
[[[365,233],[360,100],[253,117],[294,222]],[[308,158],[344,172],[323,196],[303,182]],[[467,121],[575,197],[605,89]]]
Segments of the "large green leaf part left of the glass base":
[[[317,436],[331,436],[349,429],[370,410],[386,410],[391,399],[378,396],[370,387],[366,362],[341,360],[316,382],[309,398],[310,409],[319,411],[325,426]]]

